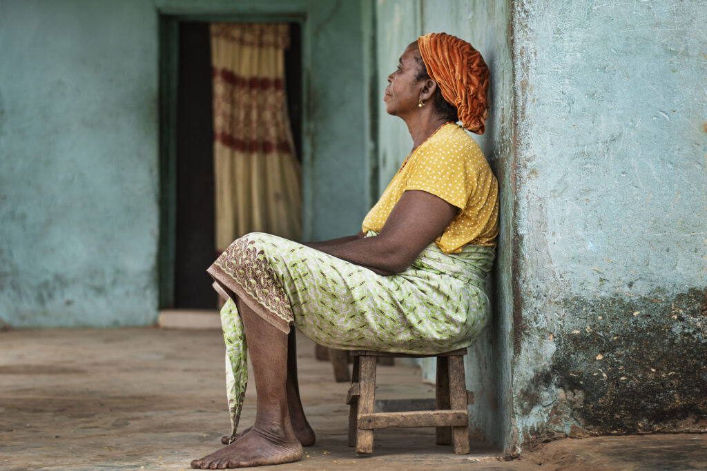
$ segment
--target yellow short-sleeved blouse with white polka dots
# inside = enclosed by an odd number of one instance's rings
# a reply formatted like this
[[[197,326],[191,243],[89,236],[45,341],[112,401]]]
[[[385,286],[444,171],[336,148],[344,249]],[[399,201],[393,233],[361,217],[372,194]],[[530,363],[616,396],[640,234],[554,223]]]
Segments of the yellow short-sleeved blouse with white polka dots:
[[[436,243],[453,254],[464,244],[496,246],[498,181],[479,145],[457,124],[445,124],[408,156],[363,220],[363,232],[380,232],[407,190],[432,193],[460,208]]]

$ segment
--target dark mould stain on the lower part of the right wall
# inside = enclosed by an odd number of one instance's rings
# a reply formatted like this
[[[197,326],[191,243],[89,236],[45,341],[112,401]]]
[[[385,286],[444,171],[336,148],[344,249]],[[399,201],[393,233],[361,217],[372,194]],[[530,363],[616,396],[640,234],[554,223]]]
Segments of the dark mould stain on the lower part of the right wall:
[[[575,297],[561,309],[549,364],[516,398],[522,415],[543,401],[550,410],[547,427],[527,431],[530,446],[566,434],[707,429],[707,290]]]

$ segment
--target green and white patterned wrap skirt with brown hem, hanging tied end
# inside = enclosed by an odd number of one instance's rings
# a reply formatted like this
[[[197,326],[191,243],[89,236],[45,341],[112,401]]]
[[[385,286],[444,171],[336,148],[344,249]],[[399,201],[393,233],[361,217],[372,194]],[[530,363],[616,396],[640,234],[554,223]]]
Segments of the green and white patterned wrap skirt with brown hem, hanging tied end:
[[[495,254],[469,244],[459,254],[444,254],[432,243],[407,270],[382,276],[270,234],[236,239],[207,270],[228,299],[221,324],[233,435],[247,383],[235,297],[284,333],[294,325],[326,347],[448,352],[471,345],[489,321],[484,287]]]

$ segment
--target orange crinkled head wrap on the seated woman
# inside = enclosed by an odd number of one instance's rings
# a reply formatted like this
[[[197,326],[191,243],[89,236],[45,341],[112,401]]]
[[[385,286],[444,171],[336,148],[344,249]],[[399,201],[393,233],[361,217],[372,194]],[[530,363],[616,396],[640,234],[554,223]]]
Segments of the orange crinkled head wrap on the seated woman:
[[[457,107],[465,129],[484,133],[489,116],[489,68],[471,44],[445,32],[417,38],[428,75],[445,100]]]

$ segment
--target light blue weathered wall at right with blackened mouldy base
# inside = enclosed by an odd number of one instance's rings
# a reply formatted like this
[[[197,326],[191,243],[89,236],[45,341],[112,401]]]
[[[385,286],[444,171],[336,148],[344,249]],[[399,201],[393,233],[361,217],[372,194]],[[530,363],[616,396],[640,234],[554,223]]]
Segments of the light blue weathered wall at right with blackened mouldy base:
[[[707,4],[517,0],[522,448],[707,422]]]

